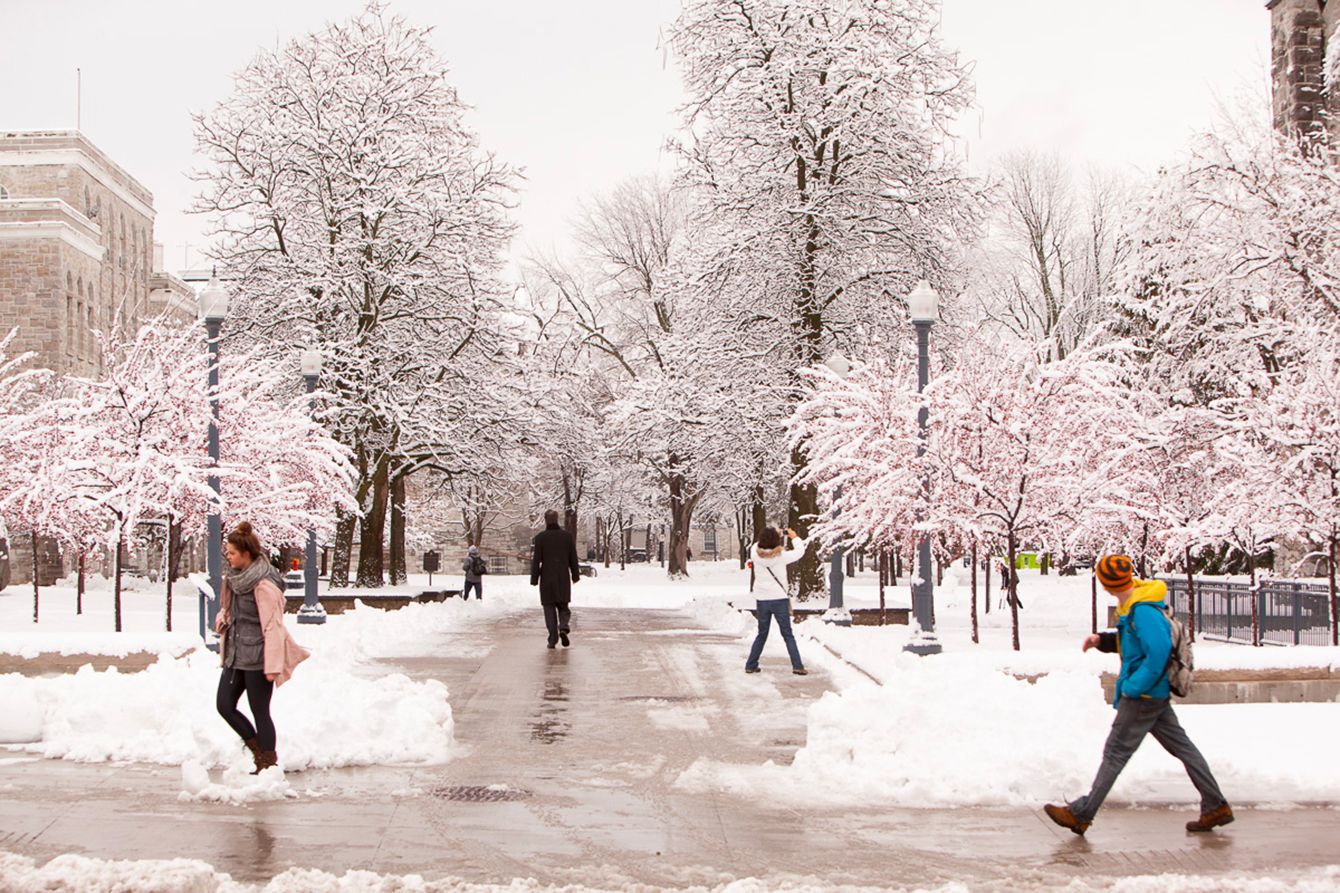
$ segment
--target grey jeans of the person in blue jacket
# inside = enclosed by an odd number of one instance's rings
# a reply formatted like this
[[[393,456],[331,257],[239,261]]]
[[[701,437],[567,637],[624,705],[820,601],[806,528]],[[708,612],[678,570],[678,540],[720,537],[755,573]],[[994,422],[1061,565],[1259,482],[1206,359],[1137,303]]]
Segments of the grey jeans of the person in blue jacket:
[[[1191,783],[1201,792],[1202,815],[1227,803],[1201,751],[1186,736],[1182,724],[1177,721],[1177,713],[1172,712],[1172,704],[1168,699],[1123,697],[1118,703],[1116,719],[1112,721],[1112,731],[1107,735],[1107,744],[1103,746],[1103,764],[1099,766],[1097,775],[1093,778],[1093,787],[1085,796],[1069,805],[1075,818],[1081,822],[1093,821],[1103,800],[1107,799],[1107,792],[1116,783],[1116,776],[1126,768],[1127,760],[1135,754],[1146,735],[1152,735],[1154,740],[1163,746],[1163,750],[1182,760],[1186,774],[1191,776]]]

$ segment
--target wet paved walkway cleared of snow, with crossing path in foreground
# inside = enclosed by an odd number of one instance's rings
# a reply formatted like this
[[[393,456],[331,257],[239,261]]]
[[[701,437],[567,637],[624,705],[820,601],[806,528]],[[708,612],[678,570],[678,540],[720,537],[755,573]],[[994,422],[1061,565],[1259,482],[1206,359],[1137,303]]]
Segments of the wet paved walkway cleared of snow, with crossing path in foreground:
[[[190,857],[251,881],[315,866],[596,886],[792,876],[1000,890],[1336,861],[1340,811],[1325,809],[1240,809],[1233,827],[1189,835],[1185,807],[1110,807],[1080,839],[1040,811],[797,811],[677,790],[699,756],[789,762],[805,707],[831,682],[793,677],[770,653],[757,687],[717,688],[741,672],[740,644],[693,626],[677,611],[584,609],[574,648],[549,652],[536,611],[441,649],[476,657],[370,668],[445,681],[464,752],[441,767],[291,776],[322,796],[178,803],[176,768],[0,759],[0,849]]]

